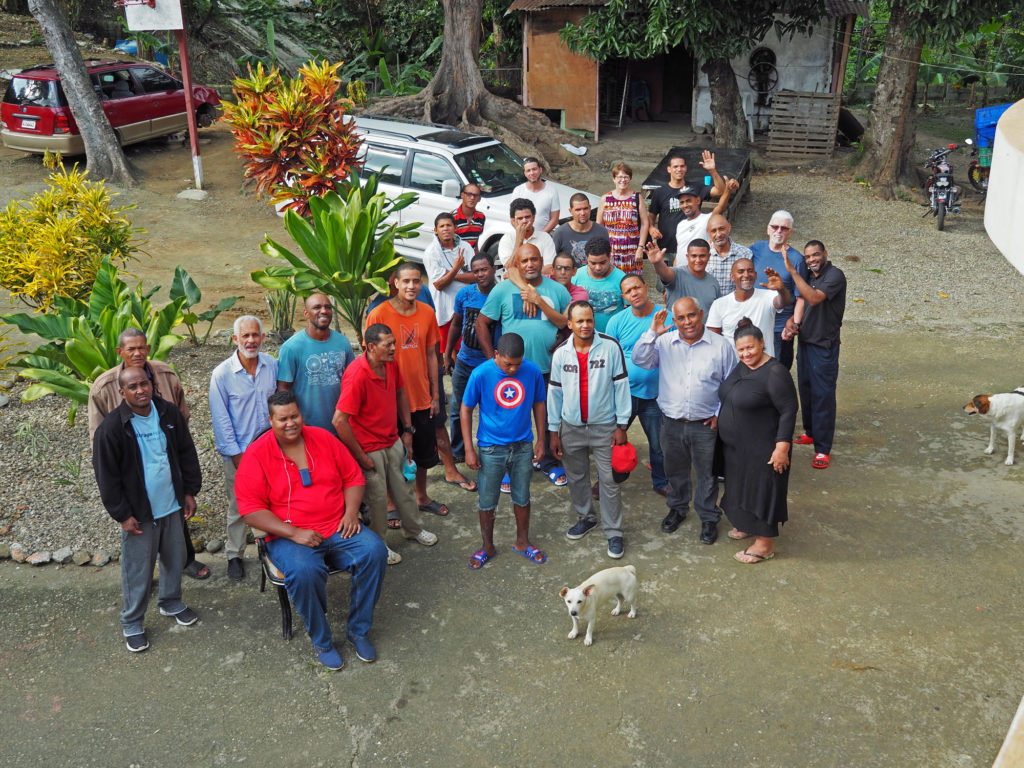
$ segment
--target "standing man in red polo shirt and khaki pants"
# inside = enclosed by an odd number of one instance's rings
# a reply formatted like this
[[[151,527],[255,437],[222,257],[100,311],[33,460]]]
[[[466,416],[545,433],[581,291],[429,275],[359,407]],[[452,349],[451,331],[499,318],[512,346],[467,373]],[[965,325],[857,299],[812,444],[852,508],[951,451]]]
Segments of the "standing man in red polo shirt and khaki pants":
[[[367,329],[362,340],[367,353],[345,369],[341,380],[334,428],[362,468],[371,530],[385,538],[390,493],[404,537],[431,547],[437,544],[437,537],[420,524],[413,488],[402,474],[402,466],[413,454],[415,430],[404,382],[394,361],[394,334],[378,323]],[[388,565],[399,562],[401,555],[388,547]]]

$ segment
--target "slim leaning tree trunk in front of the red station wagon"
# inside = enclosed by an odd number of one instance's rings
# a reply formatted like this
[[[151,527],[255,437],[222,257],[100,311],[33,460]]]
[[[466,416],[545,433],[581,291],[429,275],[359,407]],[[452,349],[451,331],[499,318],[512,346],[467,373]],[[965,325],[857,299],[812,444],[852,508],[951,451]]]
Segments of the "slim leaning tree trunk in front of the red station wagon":
[[[95,178],[122,186],[134,186],[135,176],[106,119],[92,81],[85,70],[82,53],[75,42],[68,19],[57,0],[29,0],[29,10],[39,22],[46,47],[60,75],[60,85],[68,97],[71,114],[78,124],[85,144],[85,162]]]

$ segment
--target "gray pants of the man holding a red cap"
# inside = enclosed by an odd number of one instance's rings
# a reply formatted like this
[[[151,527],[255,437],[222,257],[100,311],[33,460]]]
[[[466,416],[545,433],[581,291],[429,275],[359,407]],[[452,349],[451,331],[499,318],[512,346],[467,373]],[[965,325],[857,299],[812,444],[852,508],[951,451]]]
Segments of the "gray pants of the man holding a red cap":
[[[562,422],[559,431],[562,466],[569,481],[572,509],[580,517],[596,521],[590,483],[590,457],[594,457],[601,488],[601,526],[608,539],[623,535],[623,500],[618,483],[611,475],[611,438],[614,433],[614,423],[577,427]]]

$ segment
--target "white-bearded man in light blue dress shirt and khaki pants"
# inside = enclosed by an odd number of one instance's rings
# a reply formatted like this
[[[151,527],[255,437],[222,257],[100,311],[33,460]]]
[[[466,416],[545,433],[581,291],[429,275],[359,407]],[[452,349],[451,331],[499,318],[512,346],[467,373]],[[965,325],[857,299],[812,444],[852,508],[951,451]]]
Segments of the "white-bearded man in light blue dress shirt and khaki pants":
[[[263,326],[246,314],[234,321],[231,341],[236,351],[210,376],[210,417],[217,453],[223,459],[227,490],[227,575],[245,579],[246,524],[234,500],[234,471],[242,455],[260,432],[270,426],[266,398],[278,387],[278,360],[261,352]]]

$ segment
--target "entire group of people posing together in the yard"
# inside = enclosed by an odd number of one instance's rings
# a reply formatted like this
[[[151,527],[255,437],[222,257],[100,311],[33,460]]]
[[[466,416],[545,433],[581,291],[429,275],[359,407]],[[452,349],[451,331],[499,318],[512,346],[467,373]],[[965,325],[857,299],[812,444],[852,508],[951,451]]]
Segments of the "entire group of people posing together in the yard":
[[[305,328],[278,359],[262,351],[258,318],[234,322],[236,348],[209,390],[229,497],[227,574],[245,578],[248,524],[265,537],[325,667],[344,664],[326,616],[329,570],[352,573],[346,636],[372,662],[374,605],[387,566],[401,561],[390,532],[432,546],[421,514],[450,512],[428,495],[427,470],[438,464],[446,482],[476,496],[482,546],[471,568],[498,554],[503,494],[516,523],[512,550],[546,561],[529,538],[535,471],[568,486],[566,537],[581,540],[600,520],[617,559],[621,483],[638,466],[628,431],[639,419],[651,486],[668,507],[662,530],[675,532],[692,501],[701,542],[717,541],[724,510],[728,537],[753,539],[737,560],[774,556],[792,443],[813,443],[813,466],[828,466],[845,276],[820,242],[803,253],[788,246],[784,211],[767,240],[734,243],[723,214],[737,185],[710,153],[701,166],[711,188],[688,183],[685,159],[672,158],[648,212],[629,190],[632,170],[617,164],[597,220],[577,195],[558,224],[557,196],[527,159],[497,262],[477,250],[481,190],[466,184],[461,205],[436,217],[423,268],[400,264],[390,295],[371,305],[358,357],[332,329],[321,293],[306,297]],[[718,198],[712,214],[700,212],[706,197]],[[668,308],[652,300],[644,257]],[[794,438],[798,336],[804,433]],[[196,561],[187,528],[202,478],[180,381],[148,359],[140,331],[122,334],[118,351],[123,365],[92,387],[89,423],[101,498],[122,526],[122,630],[128,649],[141,651],[156,561],[160,612],[184,626],[197,615],[181,600],[181,574],[207,578],[209,567]]]

